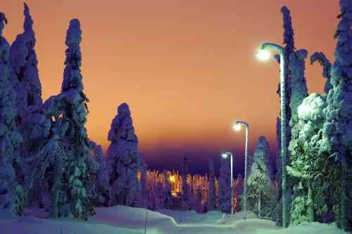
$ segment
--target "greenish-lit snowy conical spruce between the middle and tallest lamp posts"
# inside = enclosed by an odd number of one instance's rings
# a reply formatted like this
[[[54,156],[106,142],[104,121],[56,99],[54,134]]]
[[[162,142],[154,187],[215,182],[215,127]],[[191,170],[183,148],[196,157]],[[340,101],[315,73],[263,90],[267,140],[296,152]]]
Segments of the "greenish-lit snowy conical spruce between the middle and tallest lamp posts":
[[[254,162],[248,178],[247,209],[260,212],[261,216],[272,217],[277,198],[272,181],[272,166],[269,157],[269,143],[264,136],[260,136],[256,150],[254,150]]]

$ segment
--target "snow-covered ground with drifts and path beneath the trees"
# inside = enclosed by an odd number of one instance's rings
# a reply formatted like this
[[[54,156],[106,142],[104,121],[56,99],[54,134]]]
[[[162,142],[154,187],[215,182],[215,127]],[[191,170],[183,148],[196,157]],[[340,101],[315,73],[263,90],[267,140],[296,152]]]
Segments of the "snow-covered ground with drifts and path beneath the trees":
[[[0,214],[0,233],[345,233],[339,228],[322,223],[303,223],[294,228],[282,229],[275,226],[272,221],[257,219],[256,214],[250,212],[244,220],[241,212],[229,217],[220,212],[207,214],[171,210],[151,212],[142,208],[124,206],[95,208],[95,210],[96,215],[89,217],[86,222],[70,218],[45,219],[46,212],[41,209],[27,209],[25,217],[8,216],[3,212]]]

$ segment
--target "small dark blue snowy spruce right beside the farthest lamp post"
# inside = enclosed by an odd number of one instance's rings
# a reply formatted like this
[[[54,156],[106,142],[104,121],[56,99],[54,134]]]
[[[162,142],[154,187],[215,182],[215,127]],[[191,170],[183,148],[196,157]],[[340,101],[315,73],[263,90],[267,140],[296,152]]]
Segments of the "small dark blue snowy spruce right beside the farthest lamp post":
[[[231,174],[229,160],[223,160],[218,181],[218,210],[231,214]]]

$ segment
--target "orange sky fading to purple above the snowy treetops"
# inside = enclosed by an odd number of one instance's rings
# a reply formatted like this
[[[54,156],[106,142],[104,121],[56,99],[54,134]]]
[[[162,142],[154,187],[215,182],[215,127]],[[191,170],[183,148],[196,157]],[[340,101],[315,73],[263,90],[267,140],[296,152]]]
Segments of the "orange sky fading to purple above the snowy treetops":
[[[305,48],[308,56],[322,51],[334,62],[337,0],[26,3],[34,20],[43,99],[61,91],[65,34],[70,20],[78,18],[84,93],[90,100],[88,136],[105,152],[118,105],[127,103],[151,169],[161,169],[153,168],[156,161],[180,169],[184,153],[206,171],[207,152],[214,160],[221,150],[243,158],[244,131],[231,127],[237,120],[250,126],[250,153],[263,135],[275,155],[279,65],[254,54],[265,42],[282,44],[282,6],[291,11],[296,48]],[[0,11],[8,18],[3,36],[11,44],[23,32],[23,1],[1,0]],[[308,93],[323,93],[322,67],[311,66],[309,59],[306,79]],[[168,164],[170,157],[177,157],[177,166]]]

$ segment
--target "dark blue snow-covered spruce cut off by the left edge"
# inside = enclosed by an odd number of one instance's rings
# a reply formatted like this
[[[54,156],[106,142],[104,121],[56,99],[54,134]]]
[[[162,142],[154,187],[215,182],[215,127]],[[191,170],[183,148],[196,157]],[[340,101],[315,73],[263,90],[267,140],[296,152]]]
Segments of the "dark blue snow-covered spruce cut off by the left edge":
[[[15,160],[19,160],[18,148],[23,139],[15,125],[16,93],[8,80],[10,46],[2,37],[4,23],[7,24],[7,19],[0,12],[0,209],[20,216],[23,214],[23,189],[16,180],[13,166]]]

